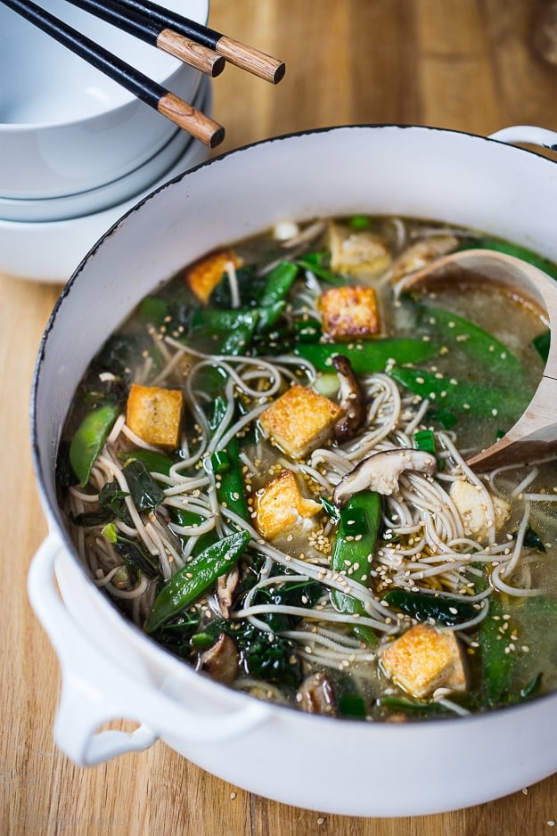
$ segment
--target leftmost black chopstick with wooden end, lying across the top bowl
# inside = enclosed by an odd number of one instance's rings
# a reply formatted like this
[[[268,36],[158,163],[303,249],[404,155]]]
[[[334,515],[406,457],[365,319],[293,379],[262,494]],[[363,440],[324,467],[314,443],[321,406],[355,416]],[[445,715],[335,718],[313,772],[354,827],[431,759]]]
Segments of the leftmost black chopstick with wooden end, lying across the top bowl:
[[[50,12],[45,12],[31,0],[0,0],[0,2],[67,46],[71,52],[93,64],[97,70],[101,70],[109,78],[117,81],[142,102],[184,128],[196,139],[209,145],[209,148],[214,148],[225,138],[225,128],[209,116],[196,110],[176,94],[170,93],[165,87],[135,70],[125,61],[121,61],[102,46],[95,44],[76,29],[72,29]]]

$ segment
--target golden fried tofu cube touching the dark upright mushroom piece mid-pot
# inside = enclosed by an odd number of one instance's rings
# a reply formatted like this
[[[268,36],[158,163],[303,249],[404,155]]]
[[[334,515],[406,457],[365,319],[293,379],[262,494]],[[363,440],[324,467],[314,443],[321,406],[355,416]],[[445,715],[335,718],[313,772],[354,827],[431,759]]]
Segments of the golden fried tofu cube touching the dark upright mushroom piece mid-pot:
[[[259,424],[277,447],[300,459],[331,437],[342,415],[338,404],[297,383],[266,408]]]

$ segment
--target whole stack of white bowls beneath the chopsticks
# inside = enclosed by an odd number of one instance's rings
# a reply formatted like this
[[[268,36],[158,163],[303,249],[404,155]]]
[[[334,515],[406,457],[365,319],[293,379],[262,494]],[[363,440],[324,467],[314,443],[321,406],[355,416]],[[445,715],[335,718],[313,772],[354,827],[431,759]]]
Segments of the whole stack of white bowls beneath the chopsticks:
[[[65,20],[210,113],[209,78],[65,3]],[[167,0],[180,11],[179,0]],[[187,15],[206,23],[209,0]],[[64,283],[98,238],[207,149],[122,86],[0,5],[0,272]]]

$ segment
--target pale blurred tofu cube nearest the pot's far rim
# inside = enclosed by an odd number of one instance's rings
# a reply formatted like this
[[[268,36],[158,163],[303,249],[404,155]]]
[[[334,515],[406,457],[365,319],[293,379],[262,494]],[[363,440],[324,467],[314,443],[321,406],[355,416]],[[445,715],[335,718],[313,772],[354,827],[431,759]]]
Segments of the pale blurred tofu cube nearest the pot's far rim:
[[[389,267],[390,252],[387,243],[369,230],[350,229],[349,226],[332,224],[328,234],[331,250],[331,269],[342,275],[381,275]]]

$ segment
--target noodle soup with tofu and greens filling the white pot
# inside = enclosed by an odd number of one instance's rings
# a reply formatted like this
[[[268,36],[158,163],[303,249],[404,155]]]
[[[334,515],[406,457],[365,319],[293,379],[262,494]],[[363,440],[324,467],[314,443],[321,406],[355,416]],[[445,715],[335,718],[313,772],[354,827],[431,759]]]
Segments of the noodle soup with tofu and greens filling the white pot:
[[[552,461],[466,461],[532,397],[540,312],[401,217],[284,222],[146,299],[80,384],[57,479],[87,570],[168,652],[261,699],[400,721],[557,686]]]

